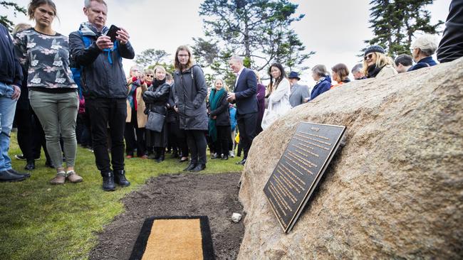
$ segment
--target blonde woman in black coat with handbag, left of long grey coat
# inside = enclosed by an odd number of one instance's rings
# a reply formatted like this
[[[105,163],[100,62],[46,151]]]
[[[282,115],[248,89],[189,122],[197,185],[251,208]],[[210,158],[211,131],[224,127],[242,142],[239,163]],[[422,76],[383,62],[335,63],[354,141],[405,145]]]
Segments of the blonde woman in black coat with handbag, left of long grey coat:
[[[162,66],[155,67],[155,80],[152,81],[151,87],[143,94],[143,101],[146,104],[146,114],[155,112],[166,116],[167,99],[169,99],[170,85],[165,82],[165,68]],[[167,146],[167,121],[164,120],[162,131],[155,132],[147,130],[147,145],[155,147],[155,160],[160,163],[165,158],[165,148]]]

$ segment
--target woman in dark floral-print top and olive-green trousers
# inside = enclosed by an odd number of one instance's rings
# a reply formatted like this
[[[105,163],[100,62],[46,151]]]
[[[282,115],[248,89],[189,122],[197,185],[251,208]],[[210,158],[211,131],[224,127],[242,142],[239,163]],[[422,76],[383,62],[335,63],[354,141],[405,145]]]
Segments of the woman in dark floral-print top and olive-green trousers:
[[[41,121],[46,147],[56,167],[51,184],[63,184],[66,178],[79,183],[74,171],[76,158],[77,86],[69,68],[68,37],[53,31],[56,6],[51,0],[32,0],[28,16],[36,25],[14,36],[16,55],[28,72],[27,86],[31,107]],[[63,137],[66,170],[59,142]]]

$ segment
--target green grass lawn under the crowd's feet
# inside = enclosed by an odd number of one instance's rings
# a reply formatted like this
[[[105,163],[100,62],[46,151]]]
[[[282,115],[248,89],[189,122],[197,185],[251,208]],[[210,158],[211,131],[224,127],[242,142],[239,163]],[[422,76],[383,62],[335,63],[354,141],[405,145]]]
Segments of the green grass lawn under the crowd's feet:
[[[22,170],[26,162],[14,159],[14,154],[21,153],[15,133],[10,147],[13,167]],[[187,166],[177,163],[170,154],[162,163],[127,159],[126,175],[132,184],[108,193],[101,190],[93,153],[83,148],[78,148],[77,153],[76,173],[83,177],[83,183],[48,184],[56,171],[44,166],[43,155],[36,161],[31,178],[20,183],[0,183],[0,259],[87,259],[98,242],[96,232],[123,212],[121,198],[151,177],[180,173]],[[239,172],[242,166],[235,162],[240,160],[208,159],[202,173]]]

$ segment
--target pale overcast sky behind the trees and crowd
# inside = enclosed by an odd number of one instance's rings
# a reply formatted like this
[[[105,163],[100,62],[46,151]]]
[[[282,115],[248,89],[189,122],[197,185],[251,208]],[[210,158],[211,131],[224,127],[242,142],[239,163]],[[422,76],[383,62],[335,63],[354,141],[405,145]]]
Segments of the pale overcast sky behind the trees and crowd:
[[[370,0],[324,0],[291,1],[299,5],[297,13],[306,16],[293,23],[307,50],[316,51],[306,64],[313,67],[324,64],[330,68],[337,63],[345,63],[349,69],[359,61],[356,55],[365,47],[363,40],[372,38],[368,28]],[[29,1],[17,0],[16,3],[27,6]],[[193,37],[202,37],[202,18],[198,14],[202,0],[107,0],[107,25],[115,24],[127,29],[135,53],[147,48],[165,50],[171,55],[179,45],[192,45]],[[83,0],[56,0],[58,16],[61,21],[53,23],[53,29],[68,35],[76,31],[84,16]],[[437,0],[432,6],[432,23],[445,21],[450,0]],[[14,17],[11,11],[1,10],[1,15],[8,14],[15,23],[29,22],[24,15]],[[57,20],[57,19],[56,19]],[[171,56],[172,58],[172,56]],[[133,65],[132,60],[125,60],[127,72]],[[302,82],[313,85],[310,71],[300,72]]]

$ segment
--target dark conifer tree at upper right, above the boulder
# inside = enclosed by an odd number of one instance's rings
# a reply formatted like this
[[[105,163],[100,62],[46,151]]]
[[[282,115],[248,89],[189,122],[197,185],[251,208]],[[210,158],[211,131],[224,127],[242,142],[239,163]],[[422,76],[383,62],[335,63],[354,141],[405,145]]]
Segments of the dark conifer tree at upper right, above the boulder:
[[[370,28],[373,37],[365,40],[368,45],[381,45],[391,57],[410,54],[412,38],[417,32],[438,33],[444,23],[431,24],[430,11],[426,6],[434,0],[372,0],[370,1]],[[365,50],[365,49],[363,49]]]

